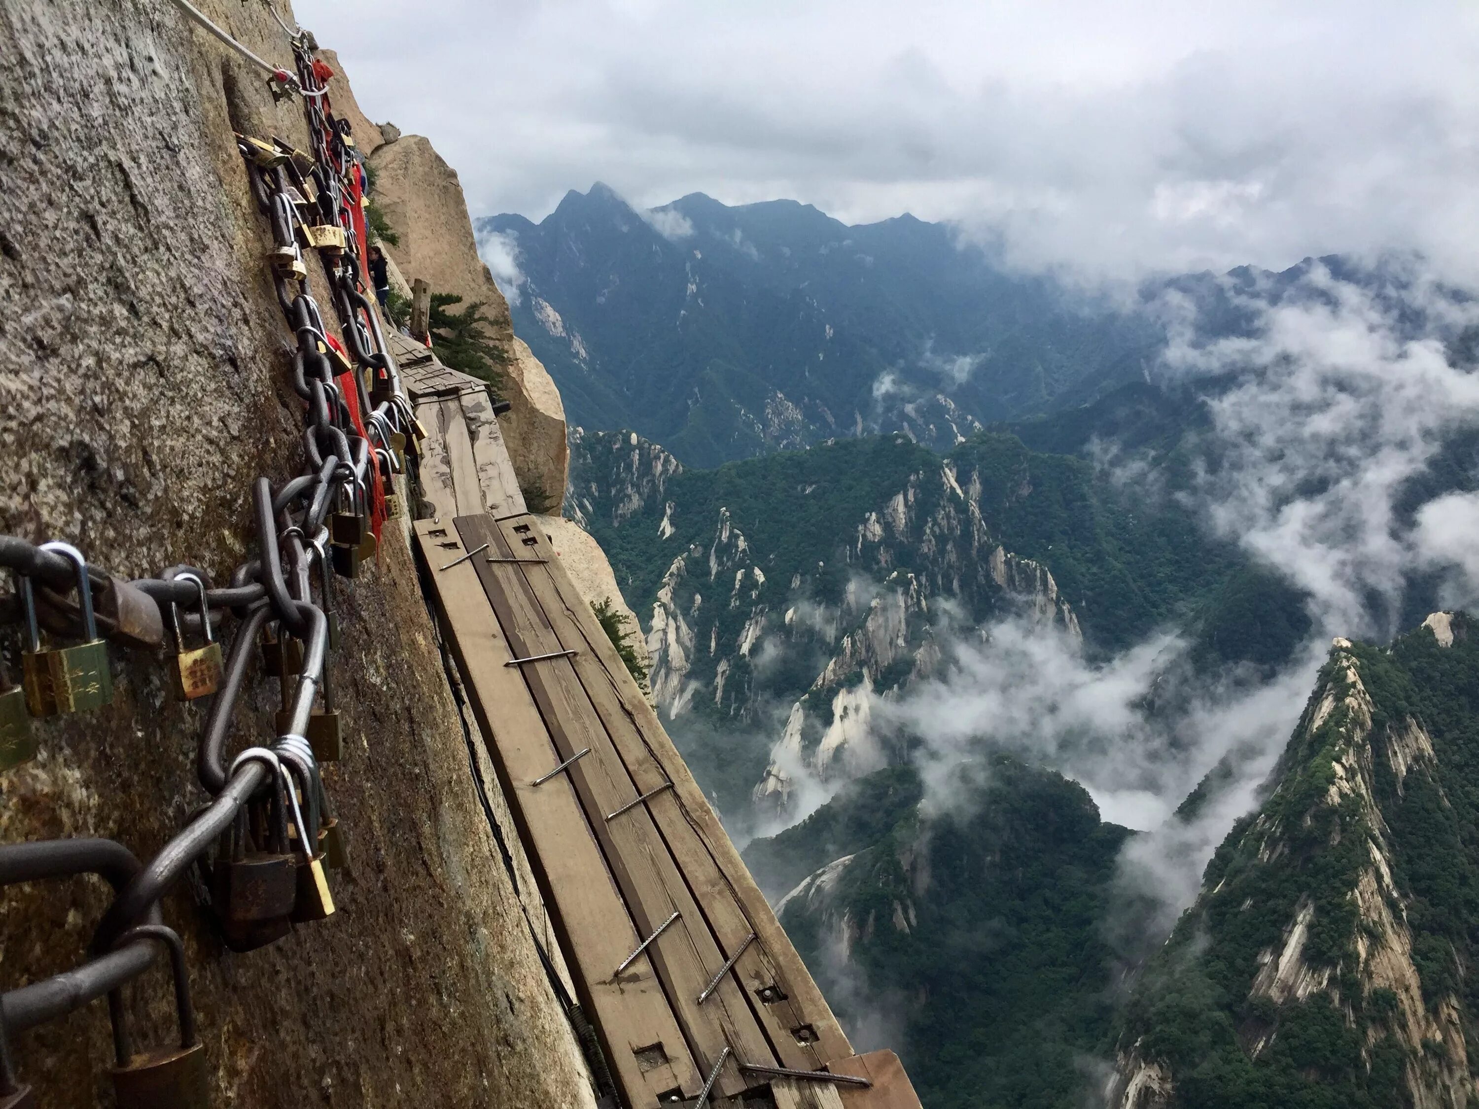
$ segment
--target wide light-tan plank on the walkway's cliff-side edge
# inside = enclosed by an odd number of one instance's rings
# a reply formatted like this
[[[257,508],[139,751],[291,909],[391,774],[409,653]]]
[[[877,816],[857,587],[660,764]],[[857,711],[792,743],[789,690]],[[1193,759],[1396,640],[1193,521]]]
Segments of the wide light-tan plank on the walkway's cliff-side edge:
[[[550,735],[518,671],[504,664],[509,643],[488,605],[473,563],[447,565],[464,553],[450,520],[416,522],[442,627],[472,693],[470,702],[550,921],[574,971],[577,997],[603,1038],[612,1074],[629,1102],[655,1105],[658,1094],[697,1091],[703,1075],[686,1050],[667,998],[649,973],[611,980],[611,970],[639,936],[605,866],[568,781],[531,787],[558,763]],[[451,544],[451,546],[447,546]],[[661,1045],[658,1053],[639,1051]]]

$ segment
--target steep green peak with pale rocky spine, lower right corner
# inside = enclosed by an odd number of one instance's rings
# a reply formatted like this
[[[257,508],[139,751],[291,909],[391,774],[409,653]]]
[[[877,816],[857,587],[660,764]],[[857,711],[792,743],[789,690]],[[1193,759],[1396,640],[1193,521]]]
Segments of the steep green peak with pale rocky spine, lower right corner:
[[[1112,1105],[1473,1103],[1475,655],[1452,614],[1387,651],[1336,640],[1145,974]]]

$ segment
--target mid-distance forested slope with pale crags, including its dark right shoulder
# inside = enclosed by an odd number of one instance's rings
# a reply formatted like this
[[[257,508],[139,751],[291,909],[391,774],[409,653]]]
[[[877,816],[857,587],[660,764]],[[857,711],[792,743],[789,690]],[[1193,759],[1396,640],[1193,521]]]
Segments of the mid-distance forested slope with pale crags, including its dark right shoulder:
[[[1130,420],[1134,389],[1102,404]],[[799,769],[883,764],[867,705],[935,673],[941,634],[1023,617],[1093,655],[1174,624],[1210,664],[1272,665],[1307,631],[1299,594],[1174,495],[1007,432],[944,457],[865,436],[694,470],[577,430],[566,513],[608,552],[658,705],[731,819],[751,798],[784,815]]]

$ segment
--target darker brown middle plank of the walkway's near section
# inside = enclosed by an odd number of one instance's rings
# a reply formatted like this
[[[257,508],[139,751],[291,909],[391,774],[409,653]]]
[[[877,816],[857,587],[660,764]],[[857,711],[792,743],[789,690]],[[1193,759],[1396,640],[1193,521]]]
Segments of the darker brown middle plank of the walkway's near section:
[[[525,556],[529,552],[525,540],[535,534],[532,523],[521,523],[519,519],[497,525],[490,516],[458,518],[456,525],[469,550],[491,543],[488,553],[500,557]],[[513,537],[512,543],[500,528]],[[510,649],[522,652],[521,657],[525,658],[563,649],[525,581],[524,568],[490,563],[487,559],[473,559],[473,565],[478,566]],[[643,963],[651,964],[701,1069],[710,1068],[725,1047],[745,1060],[774,1057],[754,1014],[737,997],[738,991],[720,988],[705,1005],[698,1005],[697,998],[710,977],[705,966],[717,967],[723,960],[704,923],[703,909],[694,901],[646,807],[637,806],[623,816],[605,819],[637,796],[637,782],[627,775],[611,736],[575,677],[571,659],[553,658],[519,670],[540,705],[559,757],[568,759],[586,747],[592,750],[590,756],[571,766],[566,776],[595,827],[606,865],[621,889],[637,932],[651,936],[674,911],[680,914],[680,920],[626,973],[633,973]],[[611,973],[615,970],[612,966]],[[751,1082],[731,1062],[720,1074],[716,1090],[722,1096],[732,1096],[748,1085]]]

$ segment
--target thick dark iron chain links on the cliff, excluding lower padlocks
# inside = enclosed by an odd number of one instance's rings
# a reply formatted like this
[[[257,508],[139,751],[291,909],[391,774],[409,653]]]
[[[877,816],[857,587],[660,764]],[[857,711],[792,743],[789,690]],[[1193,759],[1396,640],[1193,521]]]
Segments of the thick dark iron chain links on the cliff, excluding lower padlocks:
[[[277,621],[282,637],[291,636],[303,645],[287,728],[272,742],[271,756],[281,760],[284,773],[291,769],[303,787],[312,830],[303,827],[302,815],[296,816],[302,843],[314,841],[309,837],[317,837],[319,828],[333,821],[312,748],[303,738],[317,691],[325,679],[328,648],[325,608],[330,599],[325,594],[315,603],[311,569],[318,559],[324,581],[321,591],[327,591],[330,547],[325,520],[337,506],[349,504],[349,515],[365,518],[371,531],[379,528],[385,515],[383,498],[376,491],[382,478],[387,479],[398,469],[399,450],[419,432],[380,321],[361,287],[362,244],[353,208],[362,194],[362,169],[348,127],[333,115],[327,87],[315,71],[312,52],[317,43],[311,34],[293,34],[284,25],[297,68],[293,77],[263,62],[185,0],[175,3],[217,38],[272,72],[269,84],[274,95],[281,86],[305,98],[311,154],[294,151],[277,139],[265,142],[238,136],[253,195],[272,229],[275,247],[271,266],[278,305],[297,340],[291,384],[305,402],[305,466],[297,478],[278,489],[266,478],[254,482],[251,501],[257,557],[237,566],[229,586],[211,587],[209,575],[194,566],[172,566],[155,578],[135,581],[98,566],[86,568],[92,589],[112,602],[99,612],[96,624],[99,634],[114,642],[158,646],[163,642],[161,612],[176,605],[182,609],[198,605],[195,578],[207,586],[203,611],[183,615],[176,628],[209,628],[228,612],[237,618],[229,659],[197,760],[200,782],[213,800],[142,865],[121,844],[108,840],[0,846],[0,887],[93,871],[102,872],[115,889],[112,905],[93,936],[87,963],[0,995],[0,1037],[4,1029],[24,1031],[59,1019],[142,974],[154,963],[157,951],[148,936],[133,937],[132,930],[141,924],[158,924],[160,901],[170,887],[192,866],[204,864],[211,846],[237,824],[244,806],[278,788],[266,753],[238,759],[229,772],[225,762],[225,742],[241,701],[247,668],[256,654],[257,636],[269,621]],[[317,247],[322,262],[342,337],[337,349],[309,290],[305,245]],[[343,352],[348,352],[348,359]],[[78,584],[71,560],[19,537],[0,535],[0,566],[21,575],[27,589],[31,583],[40,586],[38,599],[53,623],[68,623],[65,596]],[[25,608],[19,594],[0,597],[0,620],[24,620]],[[285,639],[280,643],[284,643],[285,667]],[[287,793],[296,810],[297,798],[291,790]],[[124,942],[114,949],[120,937]]]

